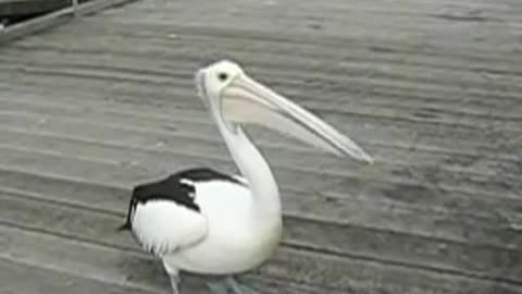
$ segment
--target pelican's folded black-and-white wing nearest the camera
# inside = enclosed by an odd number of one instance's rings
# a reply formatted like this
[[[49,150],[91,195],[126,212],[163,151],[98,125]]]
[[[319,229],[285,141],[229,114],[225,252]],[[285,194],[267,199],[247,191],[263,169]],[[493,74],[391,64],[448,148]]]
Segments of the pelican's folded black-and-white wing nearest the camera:
[[[195,187],[177,173],[134,188],[127,221],[141,246],[158,256],[195,245],[207,236],[208,220],[201,215]]]

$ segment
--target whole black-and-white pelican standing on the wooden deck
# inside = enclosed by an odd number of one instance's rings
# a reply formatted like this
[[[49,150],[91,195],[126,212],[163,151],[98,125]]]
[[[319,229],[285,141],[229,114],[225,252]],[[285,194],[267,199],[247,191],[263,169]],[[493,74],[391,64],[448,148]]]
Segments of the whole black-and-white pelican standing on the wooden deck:
[[[122,229],[162,260],[174,294],[179,293],[179,271],[227,275],[223,283],[209,283],[211,293],[257,293],[232,275],[274,253],[282,237],[282,208],[270,166],[241,125],[264,125],[340,157],[372,158],[237,63],[213,63],[199,70],[195,82],[240,175],[198,168],[138,185]]]

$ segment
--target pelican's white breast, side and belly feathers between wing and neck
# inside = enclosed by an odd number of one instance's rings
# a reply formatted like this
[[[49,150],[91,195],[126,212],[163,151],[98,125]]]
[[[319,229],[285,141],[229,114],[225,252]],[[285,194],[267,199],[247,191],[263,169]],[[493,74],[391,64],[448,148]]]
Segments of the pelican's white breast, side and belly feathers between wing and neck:
[[[164,255],[166,266],[200,273],[233,273],[258,266],[273,253],[281,236],[281,221],[252,223],[256,206],[247,186],[229,181],[195,186],[196,203],[209,220],[208,236],[194,246]]]

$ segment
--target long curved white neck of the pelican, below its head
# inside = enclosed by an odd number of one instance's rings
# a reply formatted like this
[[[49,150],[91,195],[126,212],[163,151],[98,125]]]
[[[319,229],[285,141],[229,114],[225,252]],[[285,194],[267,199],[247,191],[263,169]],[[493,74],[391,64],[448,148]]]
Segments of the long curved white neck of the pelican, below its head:
[[[253,215],[261,220],[281,218],[279,193],[269,163],[239,125],[231,131],[217,107],[210,109],[232,158],[248,181],[254,203]]]

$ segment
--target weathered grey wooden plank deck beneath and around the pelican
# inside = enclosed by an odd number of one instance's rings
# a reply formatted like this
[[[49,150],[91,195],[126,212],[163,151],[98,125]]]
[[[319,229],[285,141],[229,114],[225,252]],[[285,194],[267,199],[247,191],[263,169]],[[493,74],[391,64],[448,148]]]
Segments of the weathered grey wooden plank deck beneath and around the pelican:
[[[169,293],[115,228],[137,183],[234,170],[192,86],[226,57],[377,159],[251,128],[286,233],[243,281],[263,294],[522,293],[520,0],[323,2],[141,0],[2,45],[0,292]]]

